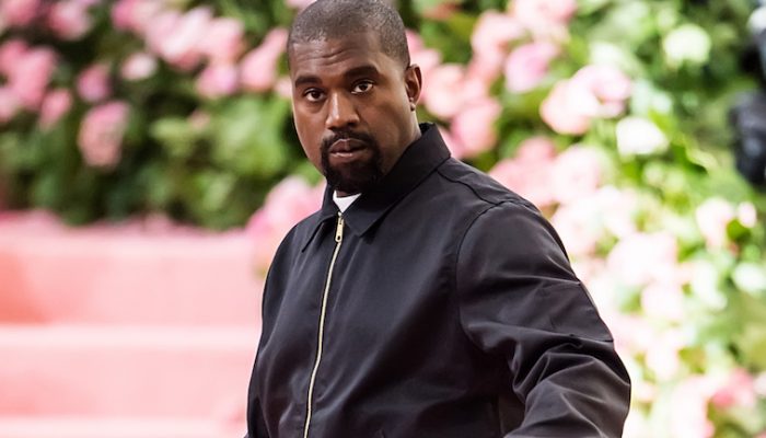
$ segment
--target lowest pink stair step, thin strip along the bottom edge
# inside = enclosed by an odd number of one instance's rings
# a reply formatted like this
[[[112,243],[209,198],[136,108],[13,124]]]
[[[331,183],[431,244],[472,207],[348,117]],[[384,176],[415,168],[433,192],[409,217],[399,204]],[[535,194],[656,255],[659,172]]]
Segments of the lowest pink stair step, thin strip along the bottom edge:
[[[0,416],[3,438],[239,438],[244,433],[243,420]]]

